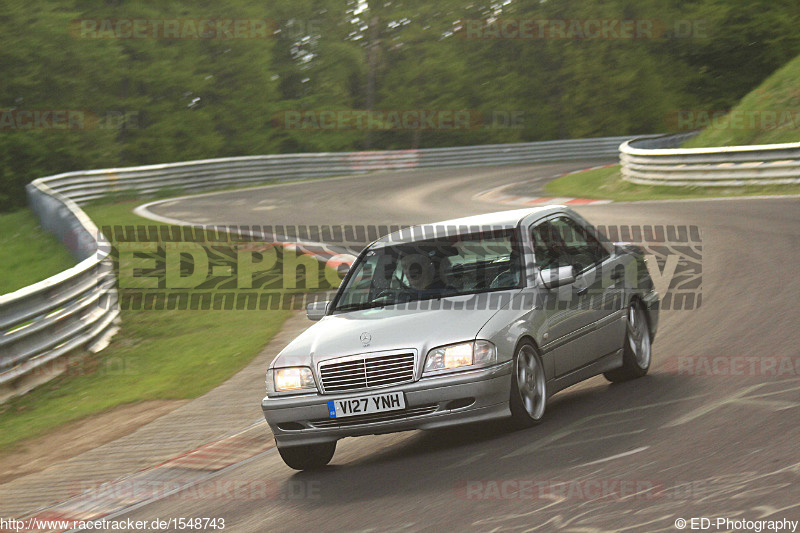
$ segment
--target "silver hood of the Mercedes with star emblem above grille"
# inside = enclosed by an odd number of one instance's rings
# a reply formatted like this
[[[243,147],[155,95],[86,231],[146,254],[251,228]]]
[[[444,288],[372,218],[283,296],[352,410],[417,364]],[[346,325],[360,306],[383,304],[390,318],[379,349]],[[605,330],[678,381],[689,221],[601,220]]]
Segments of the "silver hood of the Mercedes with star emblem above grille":
[[[519,289],[492,293],[510,302]],[[434,309],[404,306],[364,309],[328,315],[301,333],[278,357],[273,366],[311,365],[346,355],[385,350],[413,349],[424,356],[437,346],[475,339],[481,328],[502,305],[476,305],[478,309],[443,309],[443,303],[469,302],[470,296],[455,296],[430,303]],[[486,300],[483,300],[486,302]],[[368,334],[368,342],[362,334]],[[365,336],[366,337],[366,336]]]

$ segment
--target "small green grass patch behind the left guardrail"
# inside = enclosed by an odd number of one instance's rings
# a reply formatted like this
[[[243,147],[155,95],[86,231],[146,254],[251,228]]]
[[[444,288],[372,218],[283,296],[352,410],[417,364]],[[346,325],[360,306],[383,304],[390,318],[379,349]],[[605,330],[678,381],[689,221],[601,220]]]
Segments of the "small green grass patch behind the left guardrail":
[[[0,294],[6,294],[58,274],[75,261],[25,209],[0,215],[0,264]]]

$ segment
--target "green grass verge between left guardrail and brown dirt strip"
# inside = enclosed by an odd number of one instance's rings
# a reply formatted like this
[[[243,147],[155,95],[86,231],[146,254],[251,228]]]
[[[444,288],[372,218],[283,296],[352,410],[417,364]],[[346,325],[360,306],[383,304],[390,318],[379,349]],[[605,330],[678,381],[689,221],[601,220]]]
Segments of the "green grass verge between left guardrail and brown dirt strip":
[[[94,205],[86,211],[100,228],[154,225],[131,212],[138,203]],[[280,284],[279,271],[267,276]],[[105,350],[0,406],[0,451],[46,434],[55,438],[59,427],[120,405],[196,398],[250,362],[289,314],[286,310],[123,309],[122,329]]]

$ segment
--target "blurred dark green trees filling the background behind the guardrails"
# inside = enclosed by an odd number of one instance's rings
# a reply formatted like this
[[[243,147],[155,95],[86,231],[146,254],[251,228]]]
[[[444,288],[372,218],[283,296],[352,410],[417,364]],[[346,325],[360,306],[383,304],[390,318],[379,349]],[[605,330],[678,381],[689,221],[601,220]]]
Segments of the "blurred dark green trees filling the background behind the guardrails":
[[[794,0],[10,2],[0,112],[85,110],[67,131],[0,128],[0,211],[70,170],[285,152],[665,131],[730,109],[800,53]],[[269,38],[81,38],[76,20],[266,19]],[[655,21],[652,39],[470,39],[466,21]],[[690,31],[684,31],[685,27]],[[286,110],[469,110],[468,129],[287,129]],[[278,119],[276,119],[276,117]]]

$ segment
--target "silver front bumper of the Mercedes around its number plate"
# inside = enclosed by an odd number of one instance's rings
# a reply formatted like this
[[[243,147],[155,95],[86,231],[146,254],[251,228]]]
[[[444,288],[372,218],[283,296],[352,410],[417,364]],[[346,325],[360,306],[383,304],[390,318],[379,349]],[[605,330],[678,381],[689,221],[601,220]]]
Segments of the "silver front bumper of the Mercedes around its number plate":
[[[511,361],[480,370],[423,378],[414,383],[344,394],[266,397],[264,418],[279,445],[332,442],[344,437],[433,429],[509,416]],[[406,408],[330,419],[328,401],[402,392]]]

